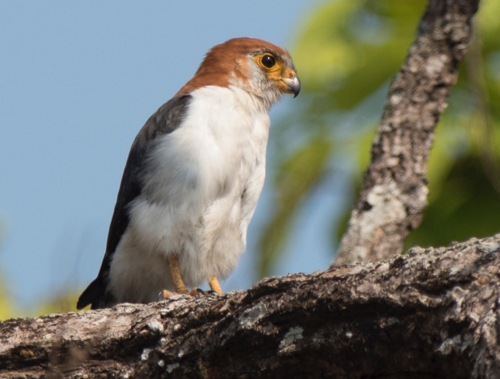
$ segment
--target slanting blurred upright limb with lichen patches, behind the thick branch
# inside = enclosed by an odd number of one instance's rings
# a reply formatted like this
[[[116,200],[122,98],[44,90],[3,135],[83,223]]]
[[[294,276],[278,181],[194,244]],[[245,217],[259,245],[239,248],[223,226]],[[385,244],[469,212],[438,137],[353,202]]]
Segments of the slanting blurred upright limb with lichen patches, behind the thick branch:
[[[347,232],[334,264],[402,252],[427,205],[434,127],[466,51],[478,0],[429,0],[415,42],[392,81]]]

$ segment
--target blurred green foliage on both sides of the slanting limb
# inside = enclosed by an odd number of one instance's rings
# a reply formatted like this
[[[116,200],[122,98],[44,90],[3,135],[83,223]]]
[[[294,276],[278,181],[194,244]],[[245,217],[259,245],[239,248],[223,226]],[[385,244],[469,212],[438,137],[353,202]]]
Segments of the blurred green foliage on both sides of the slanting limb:
[[[335,0],[308,16],[292,49],[302,82],[300,100],[271,131],[271,141],[279,141],[275,158],[280,169],[274,177],[276,206],[260,238],[259,275],[268,274],[283,252],[304,198],[336,175],[347,179],[349,190],[342,194],[342,209],[331,216],[342,220],[332,222],[337,225],[331,231],[334,244],[345,231],[388,83],[415,39],[426,4]],[[480,2],[474,37],[436,128],[427,175],[429,206],[407,247],[500,231],[498,14],[500,2]]]

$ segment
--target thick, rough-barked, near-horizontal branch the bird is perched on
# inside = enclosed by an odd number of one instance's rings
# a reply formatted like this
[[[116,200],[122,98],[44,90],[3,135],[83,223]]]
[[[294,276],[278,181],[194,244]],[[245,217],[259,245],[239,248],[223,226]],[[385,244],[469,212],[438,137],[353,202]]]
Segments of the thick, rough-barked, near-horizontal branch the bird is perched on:
[[[0,323],[0,377],[500,377],[500,234]],[[45,376],[44,376],[45,375]]]

